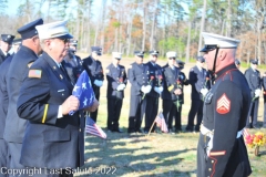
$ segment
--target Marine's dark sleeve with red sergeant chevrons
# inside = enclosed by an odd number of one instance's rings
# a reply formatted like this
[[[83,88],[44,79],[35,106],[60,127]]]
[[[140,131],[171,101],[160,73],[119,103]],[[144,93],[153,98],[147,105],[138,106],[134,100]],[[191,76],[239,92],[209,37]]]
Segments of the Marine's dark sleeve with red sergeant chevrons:
[[[212,102],[215,103],[213,148],[205,171],[206,176],[218,177],[223,176],[236,143],[244,98],[241,88],[231,81],[224,81]]]

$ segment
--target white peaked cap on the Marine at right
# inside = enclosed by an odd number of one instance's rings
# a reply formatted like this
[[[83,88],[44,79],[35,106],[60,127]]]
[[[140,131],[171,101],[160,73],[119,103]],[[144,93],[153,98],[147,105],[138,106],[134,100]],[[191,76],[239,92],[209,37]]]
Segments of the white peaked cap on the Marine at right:
[[[239,40],[233,38],[207,32],[203,32],[202,37],[204,38],[205,46],[201,50],[201,52],[212,51],[217,48],[236,49],[238,43],[241,42]]]

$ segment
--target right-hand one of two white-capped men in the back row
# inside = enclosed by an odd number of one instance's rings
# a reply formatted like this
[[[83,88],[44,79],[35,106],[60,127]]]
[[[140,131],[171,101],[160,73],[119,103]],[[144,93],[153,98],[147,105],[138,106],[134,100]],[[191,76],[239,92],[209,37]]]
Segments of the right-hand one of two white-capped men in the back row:
[[[176,52],[167,52],[168,63],[163,66],[164,90],[162,92],[163,115],[168,127],[168,132],[173,133],[172,124],[175,119],[175,131],[181,131],[181,121],[178,121],[178,112],[181,111],[181,71],[175,66]],[[178,127],[177,127],[178,125]]]

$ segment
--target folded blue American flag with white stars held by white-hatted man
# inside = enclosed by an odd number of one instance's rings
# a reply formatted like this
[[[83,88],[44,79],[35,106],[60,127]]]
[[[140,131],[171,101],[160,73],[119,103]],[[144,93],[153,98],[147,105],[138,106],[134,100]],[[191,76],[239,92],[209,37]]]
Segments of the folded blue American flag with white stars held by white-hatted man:
[[[90,107],[93,104],[95,95],[92,88],[91,80],[85,71],[83,71],[79,76],[72,91],[72,95],[76,96],[80,101],[79,110]],[[69,114],[73,115],[74,111],[71,111]]]

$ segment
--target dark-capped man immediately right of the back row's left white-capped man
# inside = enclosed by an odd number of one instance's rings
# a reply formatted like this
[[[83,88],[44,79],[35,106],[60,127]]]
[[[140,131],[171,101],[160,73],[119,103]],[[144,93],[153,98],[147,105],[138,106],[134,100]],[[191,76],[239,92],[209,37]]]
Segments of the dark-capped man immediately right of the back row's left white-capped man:
[[[135,51],[135,62],[129,67],[129,81],[131,83],[130,118],[127,133],[142,133],[141,125],[145,113],[146,102],[143,96],[151,92],[146,85],[150,76],[149,67],[143,64],[143,51]]]

